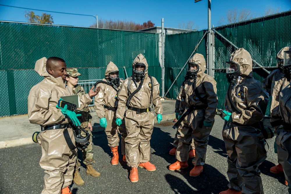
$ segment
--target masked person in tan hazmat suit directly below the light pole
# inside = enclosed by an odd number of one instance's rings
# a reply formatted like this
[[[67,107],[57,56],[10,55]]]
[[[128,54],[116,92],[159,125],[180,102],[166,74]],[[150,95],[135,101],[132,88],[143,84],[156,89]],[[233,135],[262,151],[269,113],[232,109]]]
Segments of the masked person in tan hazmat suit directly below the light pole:
[[[191,79],[184,83],[179,120],[174,125],[179,127],[179,144],[176,151],[177,161],[169,165],[169,170],[188,167],[189,146],[193,138],[195,158],[192,160],[194,168],[190,171],[191,177],[197,177],[203,171],[209,134],[218,104],[216,81],[204,73],[205,67],[205,58],[202,54],[196,53],[189,60],[187,74]],[[183,125],[178,126],[179,122],[183,122]]]

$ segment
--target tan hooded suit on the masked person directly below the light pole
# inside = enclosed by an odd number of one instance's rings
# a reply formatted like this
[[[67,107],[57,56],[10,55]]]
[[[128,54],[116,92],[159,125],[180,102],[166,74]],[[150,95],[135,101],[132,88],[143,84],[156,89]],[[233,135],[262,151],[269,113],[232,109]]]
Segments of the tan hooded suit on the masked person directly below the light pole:
[[[218,104],[216,81],[204,73],[206,63],[202,54],[196,53],[189,61],[199,65],[196,89],[200,97],[206,100],[207,104],[202,102],[193,90],[192,85],[194,80],[188,79],[185,81],[184,88],[181,92],[179,115],[188,110],[187,106],[206,106],[206,108],[193,110],[185,117],[182,126],[178,128],[179,144],[176,151],[176,159],[179,161],[188,161],[189,146],[193,138],[195,158],[192,160],[192,163],[194,165],[204,165],[209,134],[212,127],[205,127],[203,121],[211,122],[212,126],[214,124],[214,116]]]

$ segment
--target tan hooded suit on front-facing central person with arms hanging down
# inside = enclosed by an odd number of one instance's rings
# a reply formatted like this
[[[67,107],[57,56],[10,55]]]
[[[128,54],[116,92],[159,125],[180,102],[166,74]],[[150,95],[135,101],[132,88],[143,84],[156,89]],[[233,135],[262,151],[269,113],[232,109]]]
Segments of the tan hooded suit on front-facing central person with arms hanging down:
[[[134,108],[150,108],[152,104],[155,106],[155,113],[162,114],[163,108],[159,96],[159,83],[155,77],[151,79],[148,75],[148,63],[142,54],[139,54],[133,61],[132,67],[136,63],[143,63],[146,66],[145,78],[141,89],[133,95],[129,102],[130,107]],[[129,91],[127,90],[128,82]],[[150,139],[152,135],[152,130],[154,128],[154,113],[151,111],[138,112],[128,109],[125,112],[126,102],[129,97],[129,92],[134,92],[141,81],[136,82],[132,79],[132,76],[125,79],[121,85],[121,89],[118,92],[118,109],[116,112],[116,118],[123,118],[125,113],[125,126],[127,137],[125,138],[125,150],[126,150],[126,162],[130,167],[137,168],[139,163],[145,163],[150,161]],[[152,97],[151,97],[151,89]]]

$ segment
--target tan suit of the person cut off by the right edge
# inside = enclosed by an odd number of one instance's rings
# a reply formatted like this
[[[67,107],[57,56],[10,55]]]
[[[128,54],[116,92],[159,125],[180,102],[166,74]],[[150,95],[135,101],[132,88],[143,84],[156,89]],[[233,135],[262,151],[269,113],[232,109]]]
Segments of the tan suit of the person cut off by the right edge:
[[[279,110],[285,123],[291,124],[291,83],[280,92]],[[279,162],[283,166],[288,191],[291,193],[291,129],[282,129],[276,138]]]

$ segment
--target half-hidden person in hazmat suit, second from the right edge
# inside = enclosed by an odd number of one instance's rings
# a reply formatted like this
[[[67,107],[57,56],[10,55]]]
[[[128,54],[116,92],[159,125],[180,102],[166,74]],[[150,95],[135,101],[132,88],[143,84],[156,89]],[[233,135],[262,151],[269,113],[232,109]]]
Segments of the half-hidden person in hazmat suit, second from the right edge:
[[[279,95],[280,95],[281,90],[283,90],[289,84],[289,82],[284,78],[284,74],[283,74],[284,51],[288,51],[288,50],[289,50],[289,47],[284,47],[278,52],[277,57],[276,57],[278,69],[273,70],[267,76],[267,78],[263,80],[263,83],[262,83],[266,92],[268,92],[269,95],[272,95],[272,103],[270,107],[270,115],[271,115],[270,121],[271,121],[271,124],[272,122],[275,123],[275,124],[272,124],[272,126],[275,129],[274,133],[276,134],[276,137],[278,136],[278,134],[280,134],[280,131],[282,129],[282,126],[281,125],[278,126],[278,124],[276,124],[275,122],[275,121],[282,120],[282,117],[279,111]],[[274,142],[274,150],[275,150],[275,153],[277,153],[276,141]],[[278,158],[279,157],[280,156],[278,156]],[[270,172],[274,174],[283,173],[283,167],[278,162],[278,165],[270,168]]]

